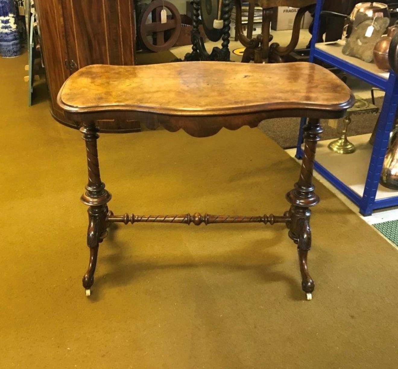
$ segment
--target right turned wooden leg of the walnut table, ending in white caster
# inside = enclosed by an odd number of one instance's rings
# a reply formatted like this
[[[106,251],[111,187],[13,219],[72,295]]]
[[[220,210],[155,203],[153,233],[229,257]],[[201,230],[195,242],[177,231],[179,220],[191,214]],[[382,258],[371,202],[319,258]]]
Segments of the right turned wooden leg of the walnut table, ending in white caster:
[[[319,202],[319,197],[314,193],[312,173],[314,170],[316,143],[320,140],[323,129],[319,119],[308,119],[304,126],[304,156],[300,170],[300,177],[295,188],[286,195],[291,203],[289,210],[291,221],[287,223],[289,237],[297,244],[298,260],[302,278],[302,289],[307,294],[307,299],[312,298],[314,281],[307,268],[307,254],[311,248],[311,228],[309,207]]]

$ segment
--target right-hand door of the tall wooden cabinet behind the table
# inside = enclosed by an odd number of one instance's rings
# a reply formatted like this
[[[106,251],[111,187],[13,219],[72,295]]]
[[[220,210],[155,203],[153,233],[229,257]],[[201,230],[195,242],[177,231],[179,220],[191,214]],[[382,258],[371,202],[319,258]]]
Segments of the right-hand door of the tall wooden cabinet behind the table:
[[[90,64],[135,64],[133,0],[62,0],[71,72]]]

